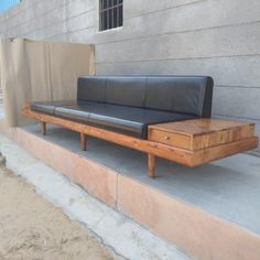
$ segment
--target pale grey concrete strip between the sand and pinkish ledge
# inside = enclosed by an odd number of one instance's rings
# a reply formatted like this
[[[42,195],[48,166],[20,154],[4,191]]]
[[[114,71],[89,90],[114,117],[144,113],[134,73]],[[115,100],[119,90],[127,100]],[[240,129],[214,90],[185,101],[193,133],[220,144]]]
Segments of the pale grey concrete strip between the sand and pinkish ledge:
[[[0,150],[7,156],[9,169],[33,184],[37,193],[62,208],[72,220],[87,227],[91,236],[116,253],[116,259],[191,260],[175,246],[166,243],[127,216],[93,198],[1,134]]]

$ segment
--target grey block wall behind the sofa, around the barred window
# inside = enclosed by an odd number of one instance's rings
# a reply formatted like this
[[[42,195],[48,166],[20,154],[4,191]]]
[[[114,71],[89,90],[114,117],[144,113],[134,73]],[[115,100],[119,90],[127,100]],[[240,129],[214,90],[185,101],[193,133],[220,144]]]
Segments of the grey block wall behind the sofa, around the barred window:
[[[0,35],[94,43],[97,74],[212,75],[214,116],[260,126],[259,13],[259,0],[124,0],[123,28],[98,32],[98,0],[23,0]]]

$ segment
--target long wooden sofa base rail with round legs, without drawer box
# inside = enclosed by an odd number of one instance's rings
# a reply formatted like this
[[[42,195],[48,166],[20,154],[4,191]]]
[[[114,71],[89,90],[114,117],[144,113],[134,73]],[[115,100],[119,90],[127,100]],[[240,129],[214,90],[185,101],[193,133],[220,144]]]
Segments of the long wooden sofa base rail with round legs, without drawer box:
[[[258,145],[258,138],[251,137],[245,140],[226,143],[197,151],[189,151],[160,142],[143,140],[134,137],[129,137],[122,133],[91,127],[80,122],[71,121],[67,119],[53,117],[51,115],[35,112],[31,110],[31,104],[25,102],[23,106],[23,115],[28,118],[39,120],[42,126],[42,133],[46,134],[46,124],[55,123],[63,128],[76,131],[80,137],[82,150],[87,149],[87,137],[99,138],[116,144],[120,144],[133,150],[138,150],[148,154],[148,175],[155,176],[155,158],[166,159],[177,162],[189,167],[203,165],[207,162],[221,159],[238,152],[247,151]]]

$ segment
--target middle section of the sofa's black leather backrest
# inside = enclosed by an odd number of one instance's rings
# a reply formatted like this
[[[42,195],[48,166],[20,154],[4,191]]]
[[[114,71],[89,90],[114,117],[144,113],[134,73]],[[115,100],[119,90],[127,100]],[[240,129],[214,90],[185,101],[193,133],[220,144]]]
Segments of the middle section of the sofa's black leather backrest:
[[[115,105],[143,107],[145,77],[107,78],[106,101]]]

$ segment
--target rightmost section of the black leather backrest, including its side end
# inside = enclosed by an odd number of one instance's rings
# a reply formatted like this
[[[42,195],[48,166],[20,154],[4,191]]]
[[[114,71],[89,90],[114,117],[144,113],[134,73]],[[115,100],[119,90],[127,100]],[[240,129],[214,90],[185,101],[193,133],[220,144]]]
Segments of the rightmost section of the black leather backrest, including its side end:
[[[210,77],[169,76],[149,77],[144,107],[175,112],[210,117],[212,96],[206,97],[206,88],[213,86]],[[208,94],[212,93],[210,89]],[[204,111],[205,104],[208,111]]]

